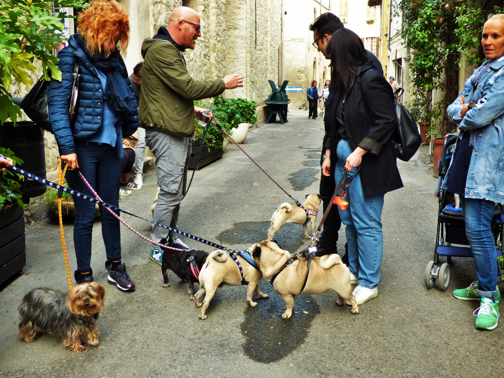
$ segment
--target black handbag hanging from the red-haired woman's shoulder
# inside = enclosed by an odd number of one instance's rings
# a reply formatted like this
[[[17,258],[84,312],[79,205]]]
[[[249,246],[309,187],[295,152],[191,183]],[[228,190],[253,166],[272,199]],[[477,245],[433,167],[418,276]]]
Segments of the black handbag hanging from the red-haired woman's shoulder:
[[[72,46],[70,46],[72,47]],[[77,51],[72,47],[74,51]],[[77,110],[79,109],[79,59],[76,57],[74,61],[74,70],[72,74],[72,95],[69,103],[69,119],[70,125],[73,127],[77,118]],[[49,89],[49,81],[40,80],[28,92],[23,101],[21,108],[26,115],[33,120],[38,127],[53,133],[51,121],[49,120],[49,110],[47,108],[47,90]]]

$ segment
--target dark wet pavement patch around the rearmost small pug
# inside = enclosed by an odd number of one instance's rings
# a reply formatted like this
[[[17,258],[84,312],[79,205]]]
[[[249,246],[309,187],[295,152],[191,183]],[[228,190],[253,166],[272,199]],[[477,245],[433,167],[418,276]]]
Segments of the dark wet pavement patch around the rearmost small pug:
[[[227,244],[248,244],[257,243],[268,238],[268,228],[270,222],[239,222],[235,223],[232,228],[229,228],[219,235],[217,240]],[[303,227],[300,224],[285,223],[280,230],[275,234],[274,239],[280,246],[288,250],[290,253],[296,253],[304,238]]]

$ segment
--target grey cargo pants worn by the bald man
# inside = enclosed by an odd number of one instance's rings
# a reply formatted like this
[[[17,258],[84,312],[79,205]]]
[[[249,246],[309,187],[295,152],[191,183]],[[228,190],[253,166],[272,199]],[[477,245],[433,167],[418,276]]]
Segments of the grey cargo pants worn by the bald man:
[[[145,131],[145,144],[156,158],[157,183],[161,191],[154,210],[154,222],[177,227],[180,201],[185,195],[187,166],[191,157],[191,140],[157,130]],[[152,240],[171,238],[173,232],[154,225]]]

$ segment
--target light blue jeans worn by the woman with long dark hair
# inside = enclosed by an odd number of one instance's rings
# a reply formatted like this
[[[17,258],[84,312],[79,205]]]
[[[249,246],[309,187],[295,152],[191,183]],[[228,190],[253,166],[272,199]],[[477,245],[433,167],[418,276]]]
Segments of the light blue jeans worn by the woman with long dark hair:
[[[345,171],[345,163],[352,149],[347,140],[340,140],[336,150],[334,178],[338,185]],[[353,168],[349,174],[357,171]],[[340,218],[346,225],[348,262],[350,272],[358,276],[358,285],[374,289],[380,282],[380,267],[383,256],[382,209],[385,194],[366,197],[360,181],[360,173],[355,176],[347,189],[346,210],[341,210]]]

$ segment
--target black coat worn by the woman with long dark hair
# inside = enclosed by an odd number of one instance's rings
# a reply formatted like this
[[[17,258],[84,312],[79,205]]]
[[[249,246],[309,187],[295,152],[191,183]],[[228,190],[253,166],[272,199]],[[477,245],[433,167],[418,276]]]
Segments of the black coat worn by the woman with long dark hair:
[[[336,106],[343,100],[344,91],[337,91],[331,106],[331,152],[336,155],[339,142]],[[344,122],[352,150],[361,147],[368,151],[362,157],[360,180],[366,197],[394,191],[403,187],[397,169],[392,134],[397,128],[397,115],[392,87],[383,74],[374,70],[369,60],[347,93],[344,103]],[[331,160],[334,170],[336,156]]]

